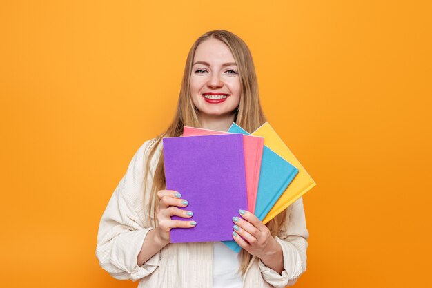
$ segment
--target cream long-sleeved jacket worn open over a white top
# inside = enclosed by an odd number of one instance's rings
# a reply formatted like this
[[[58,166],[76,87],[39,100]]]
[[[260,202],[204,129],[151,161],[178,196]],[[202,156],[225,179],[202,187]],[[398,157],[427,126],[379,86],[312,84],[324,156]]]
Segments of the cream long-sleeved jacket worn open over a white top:
[[[139,280],[139,288],[212,288],[213,242],[168,244],[144,265],[137,265],[144,238],[153,229],[148,219],[148,200],[144,207],[143,193],[149,144],[150,140],[144,142],[135,153],[102,215],[96,247],[99,263],[114,278]],[[161,144],[158,148],[147,175],[146,197]],[[286,287],[293,285],[306,270],[308,230],[302,198],[288,207],[286,213],[287,225],[276,237],[282,246],[285,270],[279,275],[254,256],[243,276],[243,287]]]

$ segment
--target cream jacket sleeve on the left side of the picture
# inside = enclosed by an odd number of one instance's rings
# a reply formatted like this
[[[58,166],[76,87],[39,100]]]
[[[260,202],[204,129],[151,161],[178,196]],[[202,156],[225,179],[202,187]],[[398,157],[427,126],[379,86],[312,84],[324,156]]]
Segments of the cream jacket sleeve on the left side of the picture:
[[[99,223],[96,256],[101,267],[119,280],[144,278],[160,263],[158,252],[143,265],[137,265],[144,239],[153,229],[143,221],[144,158],[143,144],[132,158]]]

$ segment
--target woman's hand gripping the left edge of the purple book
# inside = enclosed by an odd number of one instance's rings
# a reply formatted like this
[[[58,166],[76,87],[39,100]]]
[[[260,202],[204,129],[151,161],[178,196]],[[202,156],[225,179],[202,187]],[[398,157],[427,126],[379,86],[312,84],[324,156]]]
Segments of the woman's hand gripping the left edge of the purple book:
[[[188,201],[181,198],[181,194],[173,190],[157,191],[159,206],[156,211],[158,227],[155,228],[156,236],[161,243],[170,242],[170,231],[173,228],[191,228],[197,224],[195,221],[171,220],[171,216],[176,215],[182,218],[193,216],[192,211],[181,210],[178,207],[188,206]]]

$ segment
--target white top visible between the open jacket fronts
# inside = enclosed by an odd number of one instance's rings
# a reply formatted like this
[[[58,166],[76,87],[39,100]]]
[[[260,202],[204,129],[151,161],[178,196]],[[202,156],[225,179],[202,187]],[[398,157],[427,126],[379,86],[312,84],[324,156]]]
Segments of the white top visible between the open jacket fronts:
[[[222,242],[213,242],[213,288],[242,288],[238,254]]]

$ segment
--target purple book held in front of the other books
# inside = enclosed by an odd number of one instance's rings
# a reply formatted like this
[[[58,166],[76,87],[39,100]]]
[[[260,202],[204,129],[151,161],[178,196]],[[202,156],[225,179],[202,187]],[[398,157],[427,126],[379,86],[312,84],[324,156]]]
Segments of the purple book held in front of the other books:
[[[166,189],[181,193],[193,228],[171,229],[171,243],[233,240],[233,216],[248,209],[243,135],[164,138]],[[189,220],[172,217],[173,220]]]

